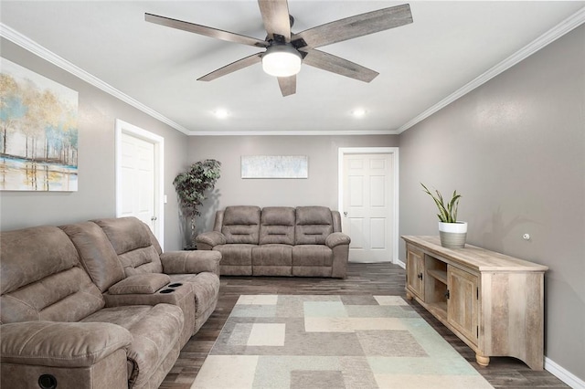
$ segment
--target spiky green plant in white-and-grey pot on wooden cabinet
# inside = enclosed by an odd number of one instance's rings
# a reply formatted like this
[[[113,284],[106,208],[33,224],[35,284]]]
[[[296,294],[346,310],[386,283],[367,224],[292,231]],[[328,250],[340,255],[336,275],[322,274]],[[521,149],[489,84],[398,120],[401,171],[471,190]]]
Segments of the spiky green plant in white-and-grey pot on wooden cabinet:
[[[445,203],[441,192],[435,190],[435,195],[431,193],[429,188],[420,183],[424,188],[424,192],[432,197],[432,200],[439,208],[439,237],[441,238],[441,246],[447,248],[463,248],[465,247],[465,239],[467,238],[467,222],[457,220],[457,210],[459,208],[459,200],[461,195],[457,191],[453,191],[451,200]]]

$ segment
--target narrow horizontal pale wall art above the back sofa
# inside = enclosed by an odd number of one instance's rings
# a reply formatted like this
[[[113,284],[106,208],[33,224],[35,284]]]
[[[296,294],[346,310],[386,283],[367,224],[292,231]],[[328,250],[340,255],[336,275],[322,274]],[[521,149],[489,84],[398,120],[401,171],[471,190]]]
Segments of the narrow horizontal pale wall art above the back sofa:
[[[241,178],[308,178],[306,155],[242,155]]]

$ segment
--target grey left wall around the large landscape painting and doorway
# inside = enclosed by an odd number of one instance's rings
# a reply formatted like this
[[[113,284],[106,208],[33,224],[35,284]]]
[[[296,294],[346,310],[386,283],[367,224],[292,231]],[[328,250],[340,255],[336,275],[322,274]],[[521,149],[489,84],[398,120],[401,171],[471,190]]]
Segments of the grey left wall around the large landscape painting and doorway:
[[[114,128],[121,119],[165,138],[165,250],[182,247],[172,182],[185,167],[187,136],[22,47],[1,44],[2,57],[79,92],[80,151],[78,192],[0,192],[0,229],[115,216]]]

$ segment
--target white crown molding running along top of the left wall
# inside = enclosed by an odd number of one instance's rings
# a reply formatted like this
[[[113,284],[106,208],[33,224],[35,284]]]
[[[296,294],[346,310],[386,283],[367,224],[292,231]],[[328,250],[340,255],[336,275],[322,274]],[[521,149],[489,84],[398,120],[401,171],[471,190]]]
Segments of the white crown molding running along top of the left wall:
[[[111,94],[113,97],[130,104],[134,108],[142,110],[144,113],[152,116],[157,121],[162,121],[165,124],[168,124],[169,126],[176,129],[177,131],[185,133],[186,135],[190,134],[190,131],[188,131],[185,127],[181,126],[175,121],[171,121],[163,114],[157,112],[156,110],[151,109],[150,107],[147,107],[142,102],[131,98],[130,96],[128,96],[125,93],[122,93],[118,89],[113,88],[112,85],[102,81],[101,79],[98,79],[97,77],[91,75],[82,68],[78,68],[77,66],[69,62],[67,59],[59,57],[57,54],[48,50],[46,47],[39,45],[34,40],[20,34],[14,28],[6,26],[4,23],[0,23],[0,37],[4,37],[5,39],[11,41],[12,43],[27,49],[31,53],[37,55],[37,57],[45,59],[46,61],[57,66],[58,68],[62,68],[63,70],[71,73],[72,75],[78,77],[79,79],[84,80],[90,85],[93,85],[94,87]]]

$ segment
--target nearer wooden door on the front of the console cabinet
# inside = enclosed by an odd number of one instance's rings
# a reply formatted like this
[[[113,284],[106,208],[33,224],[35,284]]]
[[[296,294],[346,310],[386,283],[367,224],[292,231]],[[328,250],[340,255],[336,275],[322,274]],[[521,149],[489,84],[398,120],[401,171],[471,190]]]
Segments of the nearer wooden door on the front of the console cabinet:
[[[449,324],[473,344],[477,344],[479,279],[472,273],[449,266],[447,284],[449,285],[449,300],[447,302]]]

